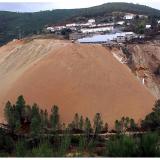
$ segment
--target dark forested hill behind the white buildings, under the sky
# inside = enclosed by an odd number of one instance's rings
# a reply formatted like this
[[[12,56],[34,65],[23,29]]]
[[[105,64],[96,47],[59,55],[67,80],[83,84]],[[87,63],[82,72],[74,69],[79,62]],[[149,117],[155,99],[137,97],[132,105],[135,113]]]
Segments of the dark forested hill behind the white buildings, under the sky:
[[[58,9],[35,13],[0,11],[0,45],[18,36],[39,33],[45,25],[63,23],[75,17],[97,17],[112,12],[160,16],[160,10],[132,3],[106,3],[85,9]]]

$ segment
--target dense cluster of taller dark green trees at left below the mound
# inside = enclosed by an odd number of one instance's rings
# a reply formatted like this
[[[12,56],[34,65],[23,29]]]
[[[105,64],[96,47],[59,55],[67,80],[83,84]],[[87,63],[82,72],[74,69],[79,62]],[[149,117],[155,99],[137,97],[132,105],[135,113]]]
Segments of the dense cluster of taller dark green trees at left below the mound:
[[[57,106],[53,106],[50,116],[47,110],[42,110],[35,103],[27,105],[23,96],[17,98],[16,104],[7,102],[5,106],[5,117],[12,131],[21,130],[26,126],[33,134],[41,133],[43,128],[51,126],[53,130],[58,129],[60,119]]]

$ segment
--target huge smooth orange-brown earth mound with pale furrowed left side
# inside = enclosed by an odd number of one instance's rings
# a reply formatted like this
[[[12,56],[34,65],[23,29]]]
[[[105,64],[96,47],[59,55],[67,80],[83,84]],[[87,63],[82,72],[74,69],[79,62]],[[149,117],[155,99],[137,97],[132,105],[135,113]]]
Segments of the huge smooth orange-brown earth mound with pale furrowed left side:
[[[0,103],[23,94],[43,108],[56,104],[61,119],[76,112],[91,119],[100,112],[110,127],[122,116],[136,121],[149,113],[155,98],[127,66],[101,45],[36,39],[0,48]]]

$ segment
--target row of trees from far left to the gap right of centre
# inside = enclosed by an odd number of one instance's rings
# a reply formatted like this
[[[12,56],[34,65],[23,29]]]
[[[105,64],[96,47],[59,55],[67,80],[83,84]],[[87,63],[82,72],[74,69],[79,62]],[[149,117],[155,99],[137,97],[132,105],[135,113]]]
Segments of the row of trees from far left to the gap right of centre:
[[[5,117],[10,129],[14,132],[21,131],[27,128],[27,132],[32,134],[43,133],[44,129],[52,129],[53,132],[58,130],[77,131],[85,133],[89,136],[90,133],[101,133],[108,131],[108,124],[103,125],[103,120],[100,113],[96,113],[92,122],[88,117],[76,113],[73,121],[67,126],[60,121],[59,107],[54,105],[51,108],[50,115],[47,110],[42,110],[34,103],[32,106],[27,105],[23,96],[17,98],[16,104],[7,102],[5,106]]]

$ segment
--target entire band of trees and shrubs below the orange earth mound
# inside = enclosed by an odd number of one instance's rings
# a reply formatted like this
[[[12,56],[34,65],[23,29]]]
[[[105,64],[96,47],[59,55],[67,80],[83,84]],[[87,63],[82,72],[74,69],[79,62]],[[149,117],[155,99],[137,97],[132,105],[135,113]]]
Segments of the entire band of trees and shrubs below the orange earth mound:
[[[2,157],[156,157],[160,156],[160,101],[138,126],[129,117],[115,121],[107,139],[108,124],[96,113],[93,121],[78,113],[68,125],[60,121],[59,108],[50,116],[37,104],[29,106],[23,96],[5,107],[7,128],[0,128]],[[92,125],[93,124],[93,125]],[[129,134],[127,134],[129,133]]]

